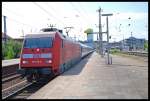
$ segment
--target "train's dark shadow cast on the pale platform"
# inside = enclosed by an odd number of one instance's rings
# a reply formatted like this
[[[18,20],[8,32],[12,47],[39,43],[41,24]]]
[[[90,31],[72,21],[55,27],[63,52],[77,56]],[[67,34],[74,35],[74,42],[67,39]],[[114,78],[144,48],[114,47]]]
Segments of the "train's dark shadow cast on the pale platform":
[[[76,65],[72,66],[70,69],[65,71],[61,76],[67,76],[67,75],[78,75],[83,68],[85,67],[86,63],[90,59],[93,53],[89,54],[88,56],[84,57],[79,63]]]

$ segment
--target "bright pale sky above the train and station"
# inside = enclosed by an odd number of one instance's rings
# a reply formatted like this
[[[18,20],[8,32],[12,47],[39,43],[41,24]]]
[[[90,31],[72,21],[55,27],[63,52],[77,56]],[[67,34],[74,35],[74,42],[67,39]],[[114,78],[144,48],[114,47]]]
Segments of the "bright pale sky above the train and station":
[[[131,33],[133,37],[148,40],[148,2],[2,2],[2,32],[3,16],[6,16],[7,34],[12,38],[36,33],[53,24],[63,29],[65,35],[64,28],[73,27],[69,36],[84,41],[87,28],[99,31],[97,10],[100,7],[102,14],[113,14],[108,17],[110,42],[129,38]],[[101,20],[102,32],[105,32],[106,17],[102,16]],[[97,40],[96,34],[94,40]]]

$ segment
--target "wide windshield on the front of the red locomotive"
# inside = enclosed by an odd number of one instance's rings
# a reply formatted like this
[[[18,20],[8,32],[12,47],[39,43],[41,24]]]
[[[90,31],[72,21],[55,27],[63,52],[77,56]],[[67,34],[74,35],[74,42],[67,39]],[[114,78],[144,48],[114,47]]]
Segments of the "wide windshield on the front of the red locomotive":
[[[52,42],[52,37],[26,38],[24,48],[50,48]]]

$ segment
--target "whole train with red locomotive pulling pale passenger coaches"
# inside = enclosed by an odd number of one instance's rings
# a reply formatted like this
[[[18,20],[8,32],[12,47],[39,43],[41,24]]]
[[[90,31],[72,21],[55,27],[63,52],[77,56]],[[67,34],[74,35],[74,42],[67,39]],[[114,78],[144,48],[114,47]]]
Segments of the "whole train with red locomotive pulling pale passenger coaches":
[[[26,35],[23,42],[18,73],[29,82],[63,73],[92,50],[64,36],[60,30],[41,31]]]

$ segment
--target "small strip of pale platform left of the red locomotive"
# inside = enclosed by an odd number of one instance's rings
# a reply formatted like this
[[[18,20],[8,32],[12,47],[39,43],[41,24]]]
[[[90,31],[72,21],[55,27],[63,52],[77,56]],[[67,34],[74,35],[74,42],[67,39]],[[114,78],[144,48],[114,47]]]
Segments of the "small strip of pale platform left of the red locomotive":
[[[10,59],[10,60],[2,60],[2,67],[11,66],[19,64],[19,58],[18,59]]]

